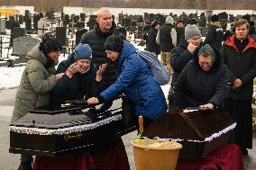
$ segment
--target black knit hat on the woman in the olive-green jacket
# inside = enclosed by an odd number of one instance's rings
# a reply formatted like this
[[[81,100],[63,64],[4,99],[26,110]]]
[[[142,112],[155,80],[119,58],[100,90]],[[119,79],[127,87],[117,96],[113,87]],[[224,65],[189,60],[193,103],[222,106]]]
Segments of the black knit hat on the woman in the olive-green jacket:
[[[62,50],[59,40],[45,35],[40,43],[41,52],[47,57],[50,52]]]

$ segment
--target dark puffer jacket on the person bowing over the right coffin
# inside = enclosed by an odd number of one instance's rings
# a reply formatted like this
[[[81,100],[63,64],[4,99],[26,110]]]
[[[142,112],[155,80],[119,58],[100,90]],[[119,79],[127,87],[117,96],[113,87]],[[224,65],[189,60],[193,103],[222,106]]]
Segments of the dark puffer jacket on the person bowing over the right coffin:
[[[178,76],[171,96],[172,105],[178,108],[198,107],[201,104],[213,103],[222,106],[228,94],[226,67],[215,49],[216,59],[209,71],[204,71],[198,63],[198,49],[194,59],[190,61]]]

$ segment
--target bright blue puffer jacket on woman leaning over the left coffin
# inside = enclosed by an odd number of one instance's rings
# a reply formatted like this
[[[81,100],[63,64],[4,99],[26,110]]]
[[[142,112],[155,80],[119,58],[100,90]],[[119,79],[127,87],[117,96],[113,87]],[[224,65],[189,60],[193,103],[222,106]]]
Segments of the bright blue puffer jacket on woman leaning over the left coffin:
[[[123,41],[123,50],[117,60],[118,78],[100,95],[105,101],[123,92],[135,104],[136,115],[155,120],[167,111],[160,84],[151,76],[151,69],[138,56],[129,42]]]

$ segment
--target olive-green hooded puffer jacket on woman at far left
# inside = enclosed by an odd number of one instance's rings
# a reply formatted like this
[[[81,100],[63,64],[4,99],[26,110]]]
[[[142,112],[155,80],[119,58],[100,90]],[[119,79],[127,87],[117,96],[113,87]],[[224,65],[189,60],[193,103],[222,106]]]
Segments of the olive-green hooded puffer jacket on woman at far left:
[[[12,122],[17,121],[29,110],[48,105],[50,90],[57,84],[55,65],[49,66],[49,59],[39,50],[40,44],[28,52],[27,64],[21,83],[15,95]]]

